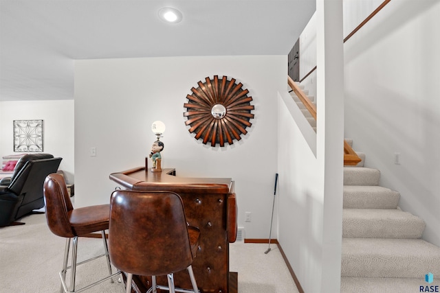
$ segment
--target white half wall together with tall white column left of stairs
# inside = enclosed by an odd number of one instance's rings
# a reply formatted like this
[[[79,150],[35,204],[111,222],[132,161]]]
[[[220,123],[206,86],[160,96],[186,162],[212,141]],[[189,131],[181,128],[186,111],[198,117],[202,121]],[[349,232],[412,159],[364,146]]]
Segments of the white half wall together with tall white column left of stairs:
[[[316,1],[316,156],[280,93],[278,241],[305,292],[339,292],[342,247],[342,1]],[[340,19],[340,21],[335,21]],[[339,40],[339,41],[338,41]],[[310,127],[310,126],[308,126]]]

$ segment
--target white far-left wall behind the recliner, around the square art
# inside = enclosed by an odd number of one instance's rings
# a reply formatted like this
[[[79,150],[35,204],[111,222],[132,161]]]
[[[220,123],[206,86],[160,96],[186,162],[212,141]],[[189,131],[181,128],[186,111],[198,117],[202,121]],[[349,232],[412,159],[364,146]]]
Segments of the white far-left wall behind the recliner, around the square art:
[[[14,152],[12,121],[43,119],[43,152],[63,158],[59,169],[74,183],[74,101],[0,102],[0,154]]]

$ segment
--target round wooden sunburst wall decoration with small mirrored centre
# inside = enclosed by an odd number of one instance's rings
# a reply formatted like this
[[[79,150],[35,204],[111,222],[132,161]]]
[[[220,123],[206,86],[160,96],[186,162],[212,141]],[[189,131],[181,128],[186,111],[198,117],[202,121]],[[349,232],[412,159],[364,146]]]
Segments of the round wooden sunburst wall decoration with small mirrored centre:
[[[205,78],[205,82],[197,84],[197,89],[191,89],[192,94],[186,96],[188,102],[184,104],[185,124],[190,126],[188,131],[195,133],[195,139],[211,143],[212,147],[217,143],[223,147],[225,142],[231,145],[234,140],[239,141],[241,135],[248,133],[246,128],[252,126],[250,119],[254,118],[249,91],[242,89],[241,82],[237,84],[234,78],[228,80],[227,76],[219,79],[214,75],[213,79]]]

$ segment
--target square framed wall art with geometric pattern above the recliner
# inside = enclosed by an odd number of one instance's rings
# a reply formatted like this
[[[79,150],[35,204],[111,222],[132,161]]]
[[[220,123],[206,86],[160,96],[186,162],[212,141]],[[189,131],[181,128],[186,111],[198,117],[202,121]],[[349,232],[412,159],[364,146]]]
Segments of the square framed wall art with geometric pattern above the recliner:
[[[43,120],[14,120],[14,152],[43,152]]]

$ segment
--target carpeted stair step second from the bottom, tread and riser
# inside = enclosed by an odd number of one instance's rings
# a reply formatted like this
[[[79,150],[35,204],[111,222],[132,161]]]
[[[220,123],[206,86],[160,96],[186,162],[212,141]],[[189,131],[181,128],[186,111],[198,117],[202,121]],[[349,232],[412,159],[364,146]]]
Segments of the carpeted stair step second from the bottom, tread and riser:
[[[422,239],[342,238],[341,277],[423,278],[428,272],[440,276],[440,248]]]

